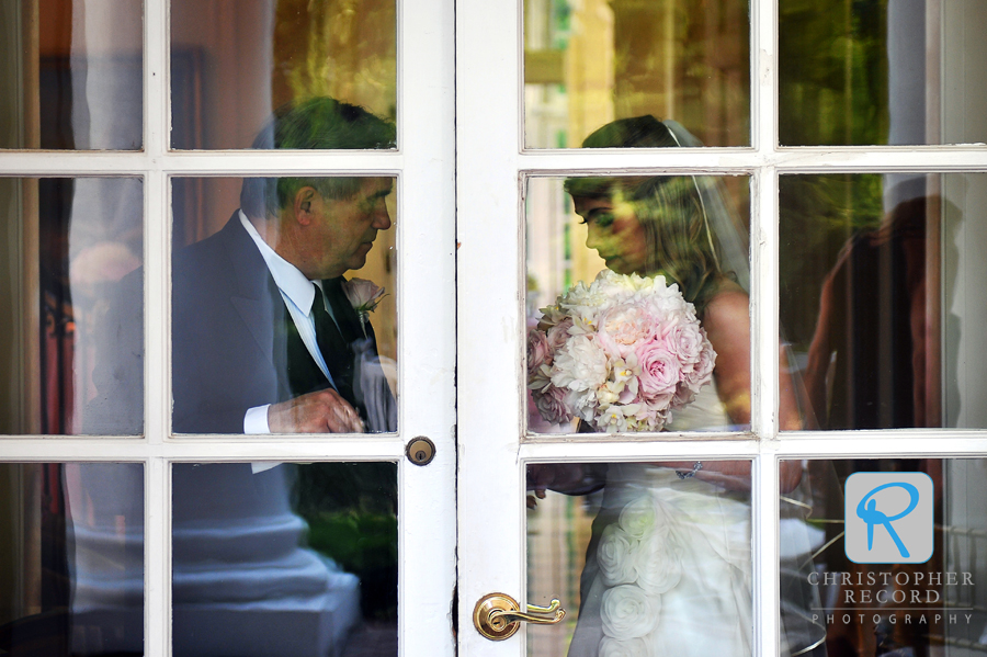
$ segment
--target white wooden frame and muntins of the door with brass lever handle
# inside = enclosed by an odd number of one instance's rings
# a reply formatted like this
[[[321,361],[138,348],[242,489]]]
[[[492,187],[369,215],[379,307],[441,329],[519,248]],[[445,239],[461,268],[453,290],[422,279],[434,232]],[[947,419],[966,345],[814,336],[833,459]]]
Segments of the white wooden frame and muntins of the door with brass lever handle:
[[[477,361],[461,347],[460,610],[490,591],[523,599],[525,585],[524,469],[527,463],[750,458],[755,547],[753,654],[779,655],[779,484],[782,458],[983,456],[987,432],[896,430],[781,433],[779,400],[779,175],[801,173],[984,172],[983,145],[921,147],[785,147],[778,144],[778,25],[774,0],[751,1],[751,146],[667,150],[525,149],[522,2],[460,2],[457,23],[457,194],[461,335],[486,346]],[[593,439],[523,433],[518,386],[523,377],[523,194],[530,177],[570,174],[749,175],[751,185],[752,429],[742,435]],[[481,197],[483,203],[464,200]],[[498,245],[490,249],[489,245]],[[484,272],[498,271],[501,290]],[[477,319],[486,317],[487,324]],[[496,317],[496,320],[489,318]],[[502,387],[502,386],[501,386]],[[491,411],[495,407],[497,411]],[[461,442],[464,439],[461,438]],[[478,474],[479,473],[479,474]],[[496,499],[496,513],[489,511]],[[478,518],[481,517],[481,520]],[[483,525],[483,526],[481,526]],[[496,536],[496,540],[491,540]],[[519,596],[520,594],[520,596]],[[533,601],[541,604],[544,601]],[[514,646],[461,634],[467,655],[523,655]]]

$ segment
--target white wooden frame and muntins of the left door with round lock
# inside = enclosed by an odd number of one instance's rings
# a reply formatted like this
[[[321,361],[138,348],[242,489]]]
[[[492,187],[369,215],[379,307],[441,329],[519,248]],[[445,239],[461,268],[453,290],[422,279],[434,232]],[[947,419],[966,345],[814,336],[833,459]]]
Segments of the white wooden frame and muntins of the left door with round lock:
[[[181,462],[398,463],[399,652],[452,655],[455,582],[455,175],[450,0],[397,3],[398,149],[172,151],[168,0],[144,7],[144,146],[139,151],[0,151],[0,177],[138,177],[144,183],[145,435],[0,437],[2,462],[136,462],[145,467],[145,654],[171,654],[171,468]],[[423,92],[424,90],[424,92]],[[398,433],[171,437],[171,179],[396,177]],[[231,211],[232,208],[230,208]],[[428,349],[416,346],[428,344]],[[405,444],[436,444],[426,467]],[[411,567],[410,565],[418,565]]]

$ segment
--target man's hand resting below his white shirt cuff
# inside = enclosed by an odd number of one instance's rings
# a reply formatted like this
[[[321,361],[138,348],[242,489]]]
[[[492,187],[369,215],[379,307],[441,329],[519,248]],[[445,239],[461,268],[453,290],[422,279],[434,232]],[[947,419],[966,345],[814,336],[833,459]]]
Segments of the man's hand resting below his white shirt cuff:
[[[271,433],[363,433],[360,414],[332,388],[268,407]]]

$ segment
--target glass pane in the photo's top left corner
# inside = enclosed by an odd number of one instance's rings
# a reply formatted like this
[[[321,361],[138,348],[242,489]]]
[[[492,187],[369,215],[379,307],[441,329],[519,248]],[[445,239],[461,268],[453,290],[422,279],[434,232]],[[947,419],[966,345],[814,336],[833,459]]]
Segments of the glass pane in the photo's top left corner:
[[[0,148],[139,149],[140,0],[0,0]]]

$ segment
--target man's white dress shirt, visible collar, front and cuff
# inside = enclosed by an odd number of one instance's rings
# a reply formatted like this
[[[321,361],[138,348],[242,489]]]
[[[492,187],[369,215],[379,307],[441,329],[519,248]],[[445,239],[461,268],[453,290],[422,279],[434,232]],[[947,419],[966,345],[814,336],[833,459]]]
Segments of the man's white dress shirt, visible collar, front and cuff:
[[[322,282],[309,281],[306,279],[305,274],[298,271],[298,268],[274,252],[274,249],[272,249],[270,245],[263,240],[260,234],[258,234],[257,228],[253,227],[253,224],[250,223],[250,219],[247,218],[247,215],[243,214],[242,209],[239,211],[238,214],[240,216],[240,223],[243,225],[243,229],[247,230],[247,234],[253,240],[253,243],[257,245],[261,257],[268,264],[268,271],[271,272],[274,284],[277,285],[277,290],[281,292],[281,298],[284,299],[284,305],[287,306],[288,314],[292,316],[292,321],[295,322],[295,327],[298,329],[298,336],[302,338],[302,342],[305,344],[308,353],[311,354],[311,358],[319,366],[319,370],[322,371],[322,374],[325,374],[329,380],[329,383],[332,384],[332,387],[336,387],[332,375],[329,374],[329,367],[326,366],[326,360],[322,358],[322,352],[319,351],[318,343],[316,342],[315,319],[311,316],[311,304],[315,301],[315,290],[311,284],[315,283],[319,286],[319,290],[321,290]],[[325,295],[322,295],[324,303],[325,298]],[[329,316],[332,317],[332,321],[336,321],[336,317],[332,315],[332,306],[329,304],[325,305]],[[338,325],[339,322],[337,322],[337,326]],[[266,404],[247,410],[247,415],[243,417],[243,433],[271,433],[271,429],[268,426],[269,406],[270,404]]]

